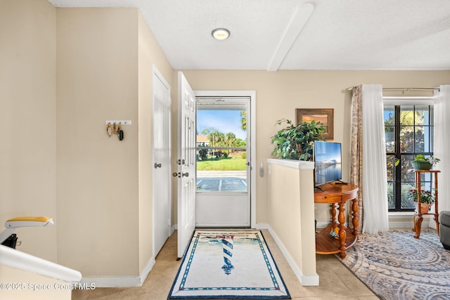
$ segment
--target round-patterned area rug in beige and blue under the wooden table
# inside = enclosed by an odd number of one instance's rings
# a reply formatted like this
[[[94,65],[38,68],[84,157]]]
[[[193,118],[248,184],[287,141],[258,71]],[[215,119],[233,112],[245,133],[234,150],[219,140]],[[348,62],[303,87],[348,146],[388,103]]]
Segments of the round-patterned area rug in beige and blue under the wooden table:
[[[340,261],[380,299],[450,299],[450,251],[434,230],[362,234]]]

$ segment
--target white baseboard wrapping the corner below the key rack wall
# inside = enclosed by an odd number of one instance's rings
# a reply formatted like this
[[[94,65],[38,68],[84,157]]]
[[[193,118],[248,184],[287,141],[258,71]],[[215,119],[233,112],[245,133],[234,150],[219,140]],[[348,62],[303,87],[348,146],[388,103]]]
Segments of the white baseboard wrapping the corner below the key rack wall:
[[[148,261],[139,276],[86,277],[82,278],[81,283],[86,283],[87,286],[93,283],[95,287],[141,287],[153,266],[155,266],[155,257]]]

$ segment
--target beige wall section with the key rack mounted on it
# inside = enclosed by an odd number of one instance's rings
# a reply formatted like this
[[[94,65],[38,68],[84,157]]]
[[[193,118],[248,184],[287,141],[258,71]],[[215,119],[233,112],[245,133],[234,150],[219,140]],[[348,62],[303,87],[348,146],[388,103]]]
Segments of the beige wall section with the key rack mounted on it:
[[[138,11],[57,9],[58,263],[139,272]],[[124,140],[105,121],[131,120]]]

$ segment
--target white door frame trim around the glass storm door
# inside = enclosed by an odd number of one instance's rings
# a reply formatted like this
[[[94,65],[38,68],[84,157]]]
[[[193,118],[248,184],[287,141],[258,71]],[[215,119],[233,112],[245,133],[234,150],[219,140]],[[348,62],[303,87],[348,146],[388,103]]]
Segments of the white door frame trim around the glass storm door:
[[[256,91],[194,91],[198,97],[250,97],[250,226],[256,228]]]

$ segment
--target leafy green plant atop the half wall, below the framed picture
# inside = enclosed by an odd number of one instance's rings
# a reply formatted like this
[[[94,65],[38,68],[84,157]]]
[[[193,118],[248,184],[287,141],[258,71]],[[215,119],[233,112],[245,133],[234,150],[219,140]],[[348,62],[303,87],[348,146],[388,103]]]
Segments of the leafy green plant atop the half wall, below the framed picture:
[[[282,123],[287,126],[271,137],[271,143],[275,145],[272,155],[282,159],[312,160],[314,141],[325,141],[322,132],[326,127],[314,120],[295,126],[289,119],[280,119],[275,125]]]

